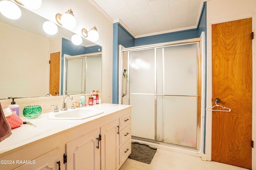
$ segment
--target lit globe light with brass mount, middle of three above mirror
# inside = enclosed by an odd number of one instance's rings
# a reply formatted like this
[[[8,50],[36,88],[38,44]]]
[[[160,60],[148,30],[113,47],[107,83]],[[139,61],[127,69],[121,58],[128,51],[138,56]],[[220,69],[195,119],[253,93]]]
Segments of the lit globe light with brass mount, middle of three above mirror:
[[[62,25],[66,29],[73,29],[74,27],[76,27],[76,19],[71,9],[63,15],[56,14],[55,18],[58,24]]]

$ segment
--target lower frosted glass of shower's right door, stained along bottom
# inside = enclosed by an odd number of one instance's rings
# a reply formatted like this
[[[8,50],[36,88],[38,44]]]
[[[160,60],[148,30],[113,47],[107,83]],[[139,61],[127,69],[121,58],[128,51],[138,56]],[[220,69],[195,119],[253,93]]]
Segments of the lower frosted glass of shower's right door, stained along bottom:
[[[157,97],[157,141],[197,147],[197,97]]]

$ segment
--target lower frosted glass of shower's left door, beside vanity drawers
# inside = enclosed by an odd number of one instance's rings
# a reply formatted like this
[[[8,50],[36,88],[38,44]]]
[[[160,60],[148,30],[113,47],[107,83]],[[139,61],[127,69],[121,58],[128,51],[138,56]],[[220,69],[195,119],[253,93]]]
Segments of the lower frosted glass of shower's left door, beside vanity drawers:
[[[130,94],[132,136],[155,139],[154,94]]]

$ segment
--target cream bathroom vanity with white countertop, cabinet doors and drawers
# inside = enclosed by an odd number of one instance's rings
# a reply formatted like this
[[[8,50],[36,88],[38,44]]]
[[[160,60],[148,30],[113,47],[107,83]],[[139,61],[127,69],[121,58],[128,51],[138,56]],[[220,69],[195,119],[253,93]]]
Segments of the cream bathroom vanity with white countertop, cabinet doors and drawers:
[[[86,119],[24,118],[0,142],[0,168],[19,170],[118,170],[131,153],[132,106],[86,106],[104,113]]]

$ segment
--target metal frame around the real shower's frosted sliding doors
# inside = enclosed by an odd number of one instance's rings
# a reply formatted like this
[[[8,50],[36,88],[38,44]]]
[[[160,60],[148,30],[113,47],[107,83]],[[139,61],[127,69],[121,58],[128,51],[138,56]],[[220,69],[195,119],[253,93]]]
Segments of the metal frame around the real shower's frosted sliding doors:
[[[156,107],[156,98],[157,96],[159,96],[157,93],[156,93],[156,49],[159,49],[159,48],[165,48],[165,47],[172,47],[172,46],[177,46],[177,45],[188,45],[188,44],[196,44],[196,51],[197,51],[197,76],[199,76],[197,78],[197,137],[196,137],[196,141],[197,141],[197,147],[196,148],[190,148],[190,147],[185,147],[185,146],[180,146],[180,145],[175,145],[175,144],[169,144],[169,143],[164,143],[164,142],[160,142],[160,141],[157,141],[157,107]],[[158,44],[153,44],[153,45],[144,45],[144,46],[138,46],[138,47],[130,47],[130,48],[125,48],[123,46],[119,46],[119,103],[120,104],[123,104],[123,97],[122,97],[122,93],[123,93],[123,89],[122,89],[122,81],[123,81],[123,77],[122,77],[122,71],[123,71],[123,52],[126,52],[128,51],[128,61],[130,60],[130,56],[129,56],[129,53],[132,52],[132,51],[141,51],[141,50],[148,50],[148,49],[154,49],[154,72],[155,72],[155,93],[154,93],[154,139],[145,139],[145,138],[141,138],[141,137],[133,137],[133,139],[138,139],[138,140],[142,140],[142,141],[148,141],[148,142],[153,142],[153,143],[157,143],[157,144],[160,144],[160,145],[165,145],[165,146],[174,146],[176,148],[180,148],[180,149],[188,149],[188,150],[196,150],[196,151],[199,151],[200,150],[200,144],[202,142],[202,121],[200,120],[200,118],[202,119],[202,37],[200,38],[194,38],[194,39],[186,39],[186,40],[181,40],[181,41],[172,41],[172,42],[168,42],[168,43],[158,43]],[[201,49],[201,50],[200,50]],[[129,73],[129,62],[127,63],[128,64],[128,75],[130,75]],[[129,77],[129,76],[128,76]],[[130,80],[128,78],[128,84],[127,84],[127,89],[130,89]],[[170,95],[160,95],[160,96],[170,96]],[[128,96],[128,102],[130,104],[130,95]],[[201,140],[200,140],[201,138]]]

